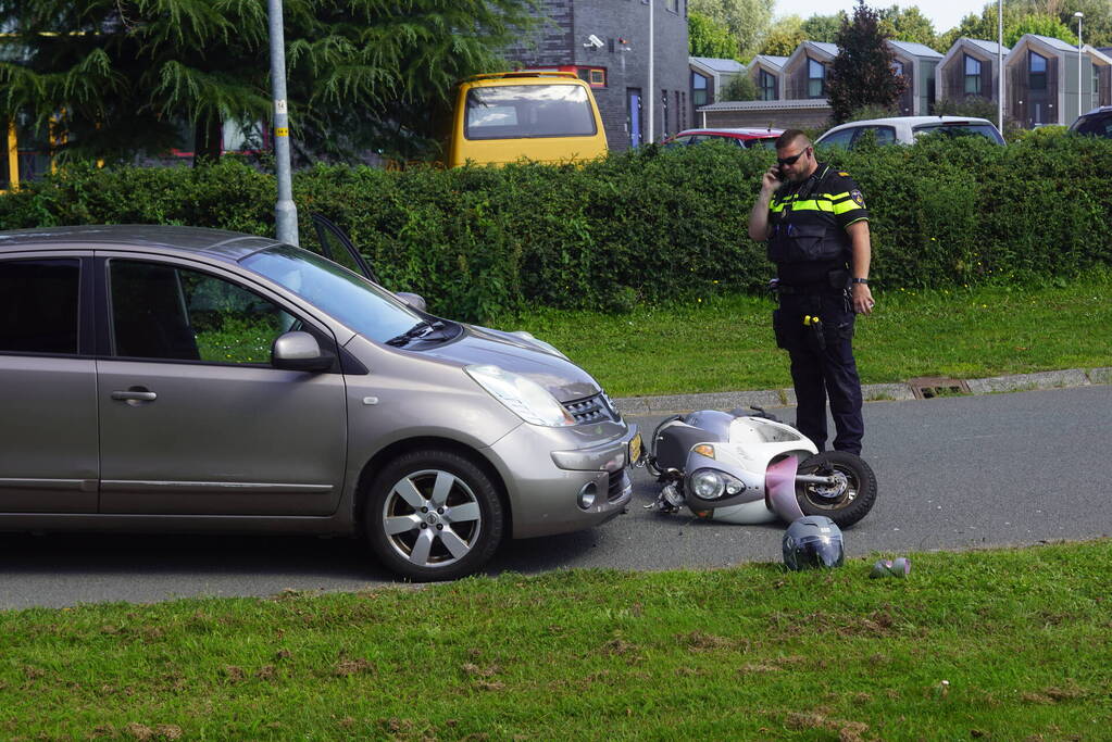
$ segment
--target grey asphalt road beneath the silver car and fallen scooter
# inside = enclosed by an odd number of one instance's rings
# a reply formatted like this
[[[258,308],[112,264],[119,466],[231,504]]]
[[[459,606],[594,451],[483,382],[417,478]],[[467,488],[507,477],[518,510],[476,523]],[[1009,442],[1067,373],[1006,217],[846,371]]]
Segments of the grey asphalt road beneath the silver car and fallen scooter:
[[[774,410],[791,422],[791,409]],[[1033,544],[1112,532],[1106,482],[1112,385],[865,404],[873,512],[847,553]],[[629,418],[646,432],[659,418]],[[726,525],[644,510],[604,527],[509,542],[490,573],[567,568],[663,570],[780,559],[783,525]],[[390,575],[358,542],[314,538],[0,537],[0,609],[153,602],[199,595],[359,590]]]

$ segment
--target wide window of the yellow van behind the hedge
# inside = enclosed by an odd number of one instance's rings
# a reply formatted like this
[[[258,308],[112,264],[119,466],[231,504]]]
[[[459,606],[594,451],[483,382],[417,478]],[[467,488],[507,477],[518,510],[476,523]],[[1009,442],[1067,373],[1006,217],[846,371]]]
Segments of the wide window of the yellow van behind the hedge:
[[[595,131],[582,86],[496,86],[467,92],[467,139],[592,137]]]

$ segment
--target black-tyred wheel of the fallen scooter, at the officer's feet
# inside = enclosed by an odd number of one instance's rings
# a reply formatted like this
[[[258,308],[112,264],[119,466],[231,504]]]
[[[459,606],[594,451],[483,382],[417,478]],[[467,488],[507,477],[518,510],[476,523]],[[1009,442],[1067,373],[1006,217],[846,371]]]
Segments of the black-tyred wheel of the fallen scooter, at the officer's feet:
[[[795,497],[806,515],[826,515],[838,528],[853,525],[868,514],[876,501],[876,475],[857,455],[825,451],[800,464],[798,473],[834,477],[833,485],[798,482]]]

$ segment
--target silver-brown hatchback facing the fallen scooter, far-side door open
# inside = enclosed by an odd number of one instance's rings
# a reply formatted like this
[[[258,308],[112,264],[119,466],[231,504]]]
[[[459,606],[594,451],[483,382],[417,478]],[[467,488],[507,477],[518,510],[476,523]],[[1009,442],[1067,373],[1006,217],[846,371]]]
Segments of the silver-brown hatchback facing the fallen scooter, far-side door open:
[[[641,437],[547,343],[326,253],[0,232],[0,530],[363,534],[413,580],[623,512]]]

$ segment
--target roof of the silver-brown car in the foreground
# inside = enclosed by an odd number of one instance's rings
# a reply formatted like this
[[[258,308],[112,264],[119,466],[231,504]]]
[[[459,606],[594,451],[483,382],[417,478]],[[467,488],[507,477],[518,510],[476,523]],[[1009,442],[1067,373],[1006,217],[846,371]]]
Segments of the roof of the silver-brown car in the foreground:
[[[278,241],[202,227],[167,227],[159,224],[99,224],[80,227],[44,227],[0,232],[0,254],[22,250],[73,250],[141,247],[185,253],[203,253],[210,258],[236,262]]]

